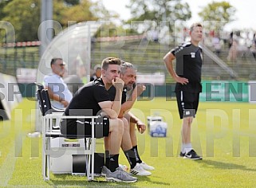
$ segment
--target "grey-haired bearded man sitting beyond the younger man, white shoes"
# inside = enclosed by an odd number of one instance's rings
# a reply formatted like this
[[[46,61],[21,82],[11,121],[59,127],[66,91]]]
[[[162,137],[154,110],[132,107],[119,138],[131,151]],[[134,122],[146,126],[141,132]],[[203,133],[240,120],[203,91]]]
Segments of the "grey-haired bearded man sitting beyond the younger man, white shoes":
[[[146,87],[144,84],[136,84],[136,68],[134,65],[128,62],[123,62],[120,66],[120,78],[124,80],[124,90],[122,93],[122,105],[120,109],[120,114],[118,118],[122,119],[124,122],[124,135],[122,139],[122,150],[124,155],[128,159],[130,164],[130,173],[148,176],[152,173],[148,170],[154,170],[153,166],[148,166],[140,159],[140,155],[137,148],[137,139],[136,139],[136,128],[142,134],[146,130],[146,125],[138,119],[136,116],[129,112],[132,108],[132,105],[135,103],[136,99]],[[127,92],[130,95],[127,95]],[[116,89],[109,88],[108,94],[113,100]]]

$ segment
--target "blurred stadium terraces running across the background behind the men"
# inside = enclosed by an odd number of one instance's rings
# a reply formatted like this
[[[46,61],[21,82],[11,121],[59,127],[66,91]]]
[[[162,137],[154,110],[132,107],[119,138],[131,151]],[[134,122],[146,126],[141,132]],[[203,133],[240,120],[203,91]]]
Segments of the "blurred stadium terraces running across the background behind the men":
[[[93,42],[91,67],[93,68],[94,65],[99,64],[104,57],[120,57],[136,65],[140,72],[164,72],[167,82],[171,82],[171,76],[167,74],[162,58],[173,47],[174,44],[163,45],[159,42],[143,39]],[[215,50],[211,46],[207,48],[215,55]],[[16,76],[16,69],[18,68],[37,69],[39,46],[2,47],[0,51],[2,52],[0,53],[0,69],[2,69],[2,72]],[[254,80],[256,78],[256,62],[249,49],[238,52],[236,61],[227,61],[228,53],[229,49],[227,47],[223,48],[219,53],[219,58],[238,76],[230,75],[230,72],[226,72],[225,69],[204,53],[203,80]]]

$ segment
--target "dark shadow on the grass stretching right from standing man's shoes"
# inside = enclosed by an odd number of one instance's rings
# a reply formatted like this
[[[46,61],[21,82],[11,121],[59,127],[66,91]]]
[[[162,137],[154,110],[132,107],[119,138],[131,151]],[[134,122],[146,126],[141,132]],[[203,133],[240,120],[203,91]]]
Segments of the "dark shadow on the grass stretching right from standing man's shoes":
[[[253,168],[247,168],[243,165],[238,165],[234,163],[223,163],[219,161],[213,161],[213,160],[198,160],[197,163],[202,163],[204,167],[208,168],[219,168],[219,169],[238,169],[238,170],[246,170],[246,171],[254,171],[256,172],[256,169]]]

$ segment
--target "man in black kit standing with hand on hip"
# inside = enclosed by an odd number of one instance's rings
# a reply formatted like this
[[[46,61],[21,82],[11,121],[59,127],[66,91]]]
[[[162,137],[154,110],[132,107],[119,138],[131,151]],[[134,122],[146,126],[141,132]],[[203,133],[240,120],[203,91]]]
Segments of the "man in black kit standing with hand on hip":
[[[191,41],[171,49],[163,61],[167,71],[176,82],[175,93],[180,119],[183,119],[182,150],[180,156],[186,159],[202,159],[191,145],[191,123],[199,105],[199,93],[202,92],[201,68],[203,63],[202,49],[199,42],[203,39],[203,26],[191,25]],[[176,71],[173,61],[176,59]]]

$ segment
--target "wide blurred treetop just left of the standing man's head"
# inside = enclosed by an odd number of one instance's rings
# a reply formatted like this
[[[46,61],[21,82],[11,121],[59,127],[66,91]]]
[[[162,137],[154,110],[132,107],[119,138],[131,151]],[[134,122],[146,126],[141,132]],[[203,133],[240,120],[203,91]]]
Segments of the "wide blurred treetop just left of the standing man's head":
[[[127,7],[133,16],[128,22],[155,21],[154,26],[168,25],[171,32],[174,30],[175,21],[191,18],[189,5],[181,0],[131,0]]]

